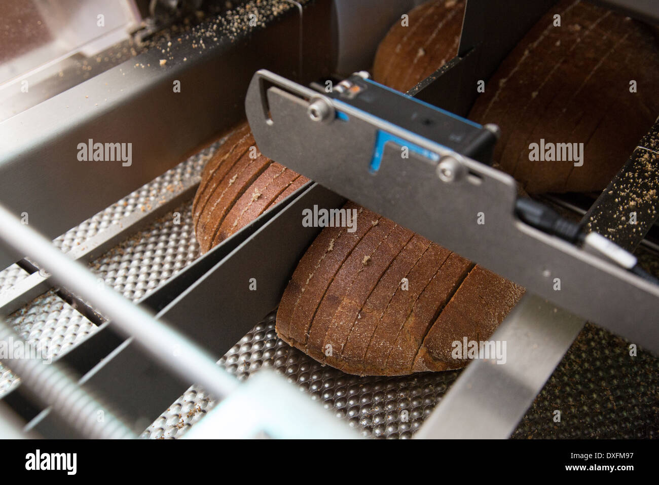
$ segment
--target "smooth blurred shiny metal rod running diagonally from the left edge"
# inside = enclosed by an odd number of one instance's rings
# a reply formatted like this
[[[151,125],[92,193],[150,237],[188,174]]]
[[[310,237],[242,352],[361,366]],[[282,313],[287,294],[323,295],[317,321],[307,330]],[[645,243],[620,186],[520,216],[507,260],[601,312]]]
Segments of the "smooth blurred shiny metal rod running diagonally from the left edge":
[[[0,206],[0,241],[13,251],[36,255],[38,262],[72,293],[94,304],[112,325],[146,349],[163,366],[202,385],[221,398],[233,391],[237,381],[215,365],[215,360],[181,333],[156,321],[152,313],[136,306],[117,292],[99,285],[86,267],[63,255],[49,240],[21,224],[9,210]]]

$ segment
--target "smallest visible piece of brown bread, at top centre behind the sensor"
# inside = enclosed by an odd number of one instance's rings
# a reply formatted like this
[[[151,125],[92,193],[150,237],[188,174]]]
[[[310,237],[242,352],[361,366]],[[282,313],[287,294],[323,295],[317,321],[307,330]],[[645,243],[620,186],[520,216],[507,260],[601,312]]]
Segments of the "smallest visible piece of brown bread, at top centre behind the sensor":
[[[405,92],[457,55],[465,1],[434,0],[397,20],[380,42],[373,79]]]

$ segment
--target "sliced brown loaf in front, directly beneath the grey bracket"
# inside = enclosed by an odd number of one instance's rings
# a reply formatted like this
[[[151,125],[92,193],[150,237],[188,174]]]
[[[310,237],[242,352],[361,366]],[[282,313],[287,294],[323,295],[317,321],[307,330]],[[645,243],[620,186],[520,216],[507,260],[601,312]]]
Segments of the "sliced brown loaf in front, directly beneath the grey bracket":
[[[276,329],[285,342],[347,373],[454,369],[467,362],[451,358],[453,340],[490,337],[523,292],[363,209],[355,233],[325,228],[306,251]]]

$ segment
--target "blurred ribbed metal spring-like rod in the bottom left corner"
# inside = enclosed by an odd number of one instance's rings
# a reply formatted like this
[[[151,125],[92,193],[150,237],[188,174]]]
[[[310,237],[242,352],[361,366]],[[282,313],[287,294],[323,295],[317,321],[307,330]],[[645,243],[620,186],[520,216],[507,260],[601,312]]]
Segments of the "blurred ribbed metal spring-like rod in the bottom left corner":
[[[32,396],[50,406],[80,436],[92,439],[135,437],[107,404],[80,387],[65,368],[49,362],[49,356],[38,355],[38,348],[34,348],[36,355],[32,356],[28,343],[3,321],[0,321],[0,344],[13,351],[11,357],[0,354],[0,361],[18,374]]]

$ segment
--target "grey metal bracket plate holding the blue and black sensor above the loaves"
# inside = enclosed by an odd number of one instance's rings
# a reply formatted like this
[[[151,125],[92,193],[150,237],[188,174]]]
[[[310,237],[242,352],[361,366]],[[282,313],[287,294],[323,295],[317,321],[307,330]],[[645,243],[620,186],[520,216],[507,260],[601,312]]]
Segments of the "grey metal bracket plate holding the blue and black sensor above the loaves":
[[[514,214],[517,185],[511,176],[339,100],[331,104],[341,117],[313,121],[308,107],[316,94],[270,71],[254,75],[246,113],[266,156],[568,311],[659,351],[659,287],[523,224]],[[386,143],[374,172],[368,161],[380,131],[399,141]],[[435,156],[410,150],[409,158],[401,158],[405,143]],[[465,167],[465,177],[438,178],[439,160],[447,156]]]

